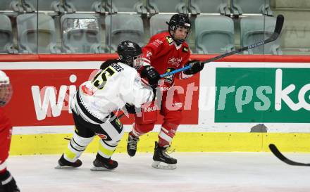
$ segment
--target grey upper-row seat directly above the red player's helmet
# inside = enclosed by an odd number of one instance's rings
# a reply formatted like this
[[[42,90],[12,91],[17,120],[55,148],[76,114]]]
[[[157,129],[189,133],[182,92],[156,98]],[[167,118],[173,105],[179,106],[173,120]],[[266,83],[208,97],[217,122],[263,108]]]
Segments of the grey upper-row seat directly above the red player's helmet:
[[[188,13],[186,0],[147,0],[149,13]]]

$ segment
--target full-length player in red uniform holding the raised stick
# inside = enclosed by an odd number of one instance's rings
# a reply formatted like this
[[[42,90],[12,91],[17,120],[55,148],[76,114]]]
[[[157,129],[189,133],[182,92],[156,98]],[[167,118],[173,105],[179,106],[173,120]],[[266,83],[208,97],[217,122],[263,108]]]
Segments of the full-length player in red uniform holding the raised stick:
[[[152,165],[154,168],[159,169],[175,169],[177,163],[175,158],[171,158],[166,153],[166,149],[170,146],[182,120],[182,101],[178,96],[178,92],[171,89],[175,77],[185,79],[204,68],[204,65],[198,60],[189,60],[190,49],[185,40],[190,34],[191,23],[187,15],[175,14],[167,24],[168,32],[155,34],[142,49],[144,68],[149,68],[153,73],[157,71],[157,77],[159,77],[159,74],[183,68],[185,65],[191,65],[192,68],[174,75],[168,75],[159,81],[162,94],[161,104],[155,106],[153,102],[152,105],[142,108],[140,115],[135,115],[135,123],[132,132],[129,133],[127,146],[128,155],[134,156],[137,151],[139,136],[150,132],[154,128],[157,119],[156,108],[159,108],[160,114],[164,118],[159,132],[159,142],[155,143],[154,163]],[[164,165],[161,165],[161,162]]]

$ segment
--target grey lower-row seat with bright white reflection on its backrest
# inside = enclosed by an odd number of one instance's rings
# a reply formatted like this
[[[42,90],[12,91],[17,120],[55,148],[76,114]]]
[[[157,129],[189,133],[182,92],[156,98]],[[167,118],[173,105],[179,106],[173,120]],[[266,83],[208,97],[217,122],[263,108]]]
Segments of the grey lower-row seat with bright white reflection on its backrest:
[[[61,29],[63,51],[66,53],[104,53],[98,20],[94,15],[63,15]]]

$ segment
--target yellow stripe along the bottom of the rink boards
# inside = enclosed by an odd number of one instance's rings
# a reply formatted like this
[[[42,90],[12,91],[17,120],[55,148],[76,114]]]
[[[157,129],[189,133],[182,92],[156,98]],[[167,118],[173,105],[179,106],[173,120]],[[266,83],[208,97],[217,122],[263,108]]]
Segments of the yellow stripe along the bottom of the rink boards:
[[[61,154],[66,150],[72,134],[13,135],[11,155]],[[125,134],[116,153],[126,153],[128,135]],[[158,133],[141,136],[138,152],[154,152]],[[301,133],[210,133],[178,132],[171,148],[177,152],[268,152],[268,144],[274,143],[283,152],[310,153],[310,134]],[[85,153],[97,153],[99,137],[95,137]]]

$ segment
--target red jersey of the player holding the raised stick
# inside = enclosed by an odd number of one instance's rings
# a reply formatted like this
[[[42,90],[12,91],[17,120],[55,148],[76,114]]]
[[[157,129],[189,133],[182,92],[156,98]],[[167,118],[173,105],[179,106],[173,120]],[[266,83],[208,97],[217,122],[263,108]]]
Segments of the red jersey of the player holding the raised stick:
[[[159,74],[171,72],[183,68],[190,59],[190,49],[186,42],[179,46],[175,44],[168,32],[155,34],[149,43],[142,48],[144,65],[153,66]],[[182,72],[163,77],[165,84],[172,86],[174,78],[185,79],[192,75],[185,75]]]

